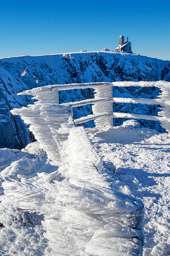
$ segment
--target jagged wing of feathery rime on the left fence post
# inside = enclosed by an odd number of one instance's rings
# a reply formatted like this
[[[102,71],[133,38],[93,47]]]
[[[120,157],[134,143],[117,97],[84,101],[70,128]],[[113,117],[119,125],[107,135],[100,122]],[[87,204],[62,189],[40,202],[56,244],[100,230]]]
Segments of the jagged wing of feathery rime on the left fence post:
[[[28,92],[29,93],[29,92]],[[34,94],[34,92],[30,92]],[[67,106],[56,104],[56,91],[39,92],[34,97],[37,102],[28,105],[28,108],[13,109],[11,112],[20,115],[24,122],[30,125],[29,129],[34,134],[47,156],[55,165],[60,164],[60,141],[67,139],[67,132],[58,129],[61,125],[70,125],[73,120],[71,110]]]

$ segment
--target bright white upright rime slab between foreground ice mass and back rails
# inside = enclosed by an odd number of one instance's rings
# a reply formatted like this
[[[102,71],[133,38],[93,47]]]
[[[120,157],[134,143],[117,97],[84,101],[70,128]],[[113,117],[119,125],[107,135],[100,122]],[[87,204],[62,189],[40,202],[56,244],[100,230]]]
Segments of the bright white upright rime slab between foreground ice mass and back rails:
[[[60,171],[66,177],[109,187],[102,173],[102,157],[93,148],[83,126],[70,129],[70,135],[63,143],[60,154]]]

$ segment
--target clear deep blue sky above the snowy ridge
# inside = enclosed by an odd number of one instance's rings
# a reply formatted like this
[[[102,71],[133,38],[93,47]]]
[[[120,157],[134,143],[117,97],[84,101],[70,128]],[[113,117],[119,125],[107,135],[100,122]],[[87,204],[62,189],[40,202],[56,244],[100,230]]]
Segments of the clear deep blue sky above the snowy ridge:
[[[110,50],[170,60],[170,1],[13,0],[0,3],[0,57]]]

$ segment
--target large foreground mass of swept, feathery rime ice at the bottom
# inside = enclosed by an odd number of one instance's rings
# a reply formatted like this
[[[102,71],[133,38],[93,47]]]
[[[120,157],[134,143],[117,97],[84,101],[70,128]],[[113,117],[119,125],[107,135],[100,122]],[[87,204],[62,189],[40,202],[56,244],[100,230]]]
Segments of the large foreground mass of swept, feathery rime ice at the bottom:
[[[72,178],[40,186],[6,181],[3,203],[40,212],[50,248],[45,255],[142,255],[143,204]]]

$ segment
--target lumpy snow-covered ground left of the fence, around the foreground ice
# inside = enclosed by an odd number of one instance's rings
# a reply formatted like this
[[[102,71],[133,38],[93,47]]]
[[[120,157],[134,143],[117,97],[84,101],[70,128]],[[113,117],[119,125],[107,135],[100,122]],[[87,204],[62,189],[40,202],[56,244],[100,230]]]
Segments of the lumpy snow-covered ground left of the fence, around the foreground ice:
[[[9,178],[13,182],[38,180],[42,183],[46,182],[48,174],[51,179],[57,179],[57,166],[46,163],[47,155],[37,142],[29,144],[23,151],[0,149],[0,156],[0,255],[43,255],[47,247],[41,224],[44,216],[36,210],[16,208],[13,200],[5,200],[1,184]]]

